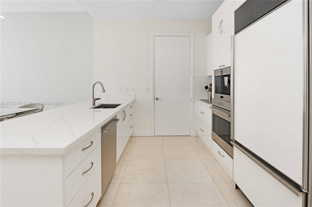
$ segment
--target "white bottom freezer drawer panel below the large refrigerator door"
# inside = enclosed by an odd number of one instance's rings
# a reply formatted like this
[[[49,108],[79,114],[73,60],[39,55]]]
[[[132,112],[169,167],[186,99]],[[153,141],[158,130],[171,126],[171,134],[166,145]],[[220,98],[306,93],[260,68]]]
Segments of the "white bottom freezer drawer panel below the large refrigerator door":
[[[233,178],[255,207],[302,206],[302,193],[294,194],[235,147]]]

